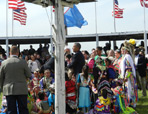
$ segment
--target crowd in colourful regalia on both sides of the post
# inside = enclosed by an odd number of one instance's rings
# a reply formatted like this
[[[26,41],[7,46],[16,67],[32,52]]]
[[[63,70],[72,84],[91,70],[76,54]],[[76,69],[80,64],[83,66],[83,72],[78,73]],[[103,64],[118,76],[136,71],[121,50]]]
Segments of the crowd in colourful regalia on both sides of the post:
[[[93,48],[91,54],[87,50],[81,51],[80,43],[74,43],[73,54],[66,47],[66,114],[137,114],[134,109],[138,102],[138,89],[147,96],[147,59],[143,47],[136,46],[133,39],[125,41],[120,48],[115,47],[115,50],[110,49],[107,43],[104,48]],[[19,52],[19,59],[26,61],[31,72],[26,79],[29,114],[55,113],[54,56],[48,50],[49,45],[42,47],[40,44],[38,50],[30,46],[29,50]],[[5,51],[0,47],[2,63],[4,55]],[[0,114],[9,112],[7,99],[3,96]],[[19,108],[17,113],[24,114]]]

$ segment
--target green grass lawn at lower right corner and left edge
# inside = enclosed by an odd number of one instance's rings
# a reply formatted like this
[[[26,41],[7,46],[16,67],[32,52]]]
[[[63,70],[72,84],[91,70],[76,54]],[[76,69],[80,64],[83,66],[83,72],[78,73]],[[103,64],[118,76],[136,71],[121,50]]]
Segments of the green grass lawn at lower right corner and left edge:
[[[142,97],[142,91],[138,91],[138,97],[139,101],[136,106],[136,111],[139,114],[148,114],[148,96],[147,97]],[[148,95],[148,90],[147,90],[147,95]],[[1,101],[2,101],[2,94],[0,94],[0,107],[1,107]]]

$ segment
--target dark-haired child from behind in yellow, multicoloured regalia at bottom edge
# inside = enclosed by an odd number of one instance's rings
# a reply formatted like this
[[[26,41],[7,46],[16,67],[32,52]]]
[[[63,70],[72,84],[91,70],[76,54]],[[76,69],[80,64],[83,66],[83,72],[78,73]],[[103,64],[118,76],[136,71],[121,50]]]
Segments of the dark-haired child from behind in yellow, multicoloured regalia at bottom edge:
[[[110,104],[111,99],[107,96],[107,90],[102,89],[101,96],[98,97],[94,107],[94,114],[111,114]]]

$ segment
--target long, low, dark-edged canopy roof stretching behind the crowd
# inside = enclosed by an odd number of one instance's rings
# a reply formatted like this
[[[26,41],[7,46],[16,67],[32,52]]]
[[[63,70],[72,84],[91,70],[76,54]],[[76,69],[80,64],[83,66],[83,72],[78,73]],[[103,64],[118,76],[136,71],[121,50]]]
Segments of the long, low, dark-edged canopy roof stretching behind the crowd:
[[[120,33],[102,33],[98,34],[99,41],[115,41],[125,39],[144,39],[143,32],[120,32]],[[51,35],[48,36],[16,36],[8,37],[9,44],[39,44],[50,43]],[[0,37],[0,44],[5,44],[6,37]],[[96,34],[88,35],[68,35],[67,42],[90,42],[96,41]]]

